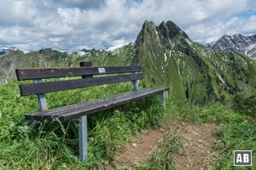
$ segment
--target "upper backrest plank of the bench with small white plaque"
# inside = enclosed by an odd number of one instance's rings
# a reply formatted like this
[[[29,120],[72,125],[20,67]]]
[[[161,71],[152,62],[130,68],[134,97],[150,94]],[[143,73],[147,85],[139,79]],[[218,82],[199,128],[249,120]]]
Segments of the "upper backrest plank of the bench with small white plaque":
[[[16,77],[20,80],[44,79],[55,77],[79,77],[86,75],[114,74],[125,72],[140,72],[141,66],[102,66],[78,68],[45,68],[17,69]]]

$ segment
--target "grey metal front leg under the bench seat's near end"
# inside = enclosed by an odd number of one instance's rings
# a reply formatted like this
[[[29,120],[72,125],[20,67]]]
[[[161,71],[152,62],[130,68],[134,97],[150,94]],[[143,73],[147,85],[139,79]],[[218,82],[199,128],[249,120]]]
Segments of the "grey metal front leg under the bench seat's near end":
[[[85,161],[87,158],[87,116],[80,118],[79,124],[79,160]]]

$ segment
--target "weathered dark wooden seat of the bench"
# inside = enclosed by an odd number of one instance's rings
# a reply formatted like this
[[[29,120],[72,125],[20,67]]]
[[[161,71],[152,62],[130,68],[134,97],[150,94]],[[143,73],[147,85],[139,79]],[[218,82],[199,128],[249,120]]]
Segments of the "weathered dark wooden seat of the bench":
[[[79,104],[79,107],[66,107],[66,109],[60,108],[60,111],[49,110],[38,112],[36,114],[26,115],[26,118],[41,121],[50,117],[59,117],[61,121],[67,121],[73,118],[78,118],[80,116],[90,115],[97,111],[103,111],[117,105],[124,105],[128,102],[142,99],[154,94],[161,94],[168,89],[169,88],[152,88],[146,90],[144,89],[143,91],[135,91],[131,93],[126,93],[125,95],[115,96],[112,99],[83,103],[82,105]]]

